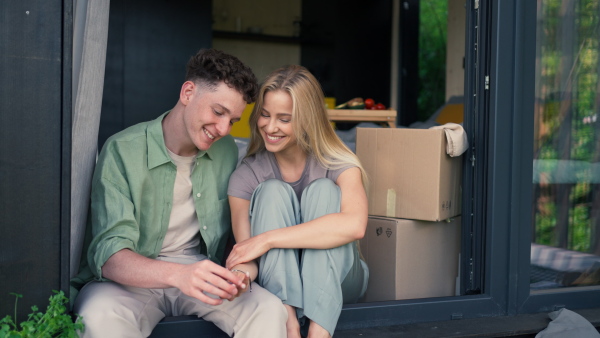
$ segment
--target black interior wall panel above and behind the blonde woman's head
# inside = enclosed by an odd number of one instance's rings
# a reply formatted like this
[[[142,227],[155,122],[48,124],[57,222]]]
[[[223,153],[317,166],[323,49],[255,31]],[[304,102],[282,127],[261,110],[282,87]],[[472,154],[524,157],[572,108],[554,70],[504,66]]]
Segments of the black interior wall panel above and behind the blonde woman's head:
[[[390,104],[392,1],[302,1],[301,63],[338,103]]]

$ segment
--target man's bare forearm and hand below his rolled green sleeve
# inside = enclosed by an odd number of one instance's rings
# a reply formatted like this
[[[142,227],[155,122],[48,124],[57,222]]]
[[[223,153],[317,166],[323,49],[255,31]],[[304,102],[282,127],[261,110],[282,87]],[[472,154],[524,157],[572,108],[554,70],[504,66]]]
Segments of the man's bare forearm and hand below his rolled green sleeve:
[[[208,259],[178,264],[150,259],[128,249],[112,255],[102,266],[102,275],[117,283],[140,288],[176,287],[186,295],[212,305],[221,304],[222,299],[233,299],[238,288],[246,287],[243,278]],[[210,298],[203,292],[220,299]]]

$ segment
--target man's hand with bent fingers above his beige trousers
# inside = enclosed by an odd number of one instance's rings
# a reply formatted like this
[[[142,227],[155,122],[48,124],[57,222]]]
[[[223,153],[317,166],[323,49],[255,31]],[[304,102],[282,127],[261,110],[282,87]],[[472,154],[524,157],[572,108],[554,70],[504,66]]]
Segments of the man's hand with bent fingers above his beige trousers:
[[[179,276],[173,276],[175,287],[211,305],[219,305],[223,299],[233,300],[240,295],[240,290],[245,290],[249,285],[245,275],[233,273],[208,259],[183,265],[180,272]],[[219,298],[211,298],[204,292]]]

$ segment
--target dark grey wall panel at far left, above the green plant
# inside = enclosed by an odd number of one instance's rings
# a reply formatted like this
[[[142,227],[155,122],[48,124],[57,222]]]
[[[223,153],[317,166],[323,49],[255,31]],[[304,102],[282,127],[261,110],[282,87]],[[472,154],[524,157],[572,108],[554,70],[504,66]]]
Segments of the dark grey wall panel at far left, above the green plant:
[[[3,1],[0,17],[0,317],[60,287],[62,0]]]

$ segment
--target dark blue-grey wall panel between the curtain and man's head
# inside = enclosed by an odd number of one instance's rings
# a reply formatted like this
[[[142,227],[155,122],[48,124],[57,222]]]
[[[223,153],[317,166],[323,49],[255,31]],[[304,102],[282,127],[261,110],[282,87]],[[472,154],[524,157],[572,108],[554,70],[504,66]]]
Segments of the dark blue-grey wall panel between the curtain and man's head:
[[[99,146],[171,109],[187,60],[212,45],[210,1],[112,1]]]

